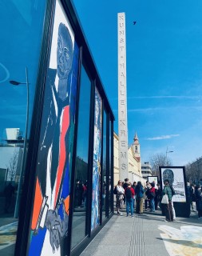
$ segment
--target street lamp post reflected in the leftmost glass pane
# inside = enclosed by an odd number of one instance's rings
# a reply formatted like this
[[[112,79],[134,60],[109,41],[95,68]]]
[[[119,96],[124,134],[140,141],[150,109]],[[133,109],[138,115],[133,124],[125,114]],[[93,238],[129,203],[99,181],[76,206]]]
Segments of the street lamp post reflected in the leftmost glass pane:
[[[26,134],[25,134],[25,138],[24,138],[22,166],[21,166],[21,171],[20,171],[18,192],[17,192],[17,198],[16,198],[16,203],[15,203],[15,209],[14,209],[14,218],[18,218],[18,210],[19,210],[19,203],[20,203],[20,194],[21,194],[21,189],[22,189],[23,173],[24,173],[25,164],[26,164],[26,143],[27,143],[27,130],[28,130],[28,121],[29,121],[29,80],[28,80],[27,67],[26,67],[26,82],[10,81],[10,84],[12,84],[14,86],[26,85]]]

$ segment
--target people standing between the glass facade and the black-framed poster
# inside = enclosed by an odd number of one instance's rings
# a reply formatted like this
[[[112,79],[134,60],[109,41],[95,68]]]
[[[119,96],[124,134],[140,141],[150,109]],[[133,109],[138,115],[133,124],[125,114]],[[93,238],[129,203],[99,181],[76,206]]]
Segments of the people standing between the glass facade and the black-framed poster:
[[[160,192],[160,184],[155,182],[146,182],[143,186],[141,182],[129,182],[128,178],[125,178],[125,182],[118,181],[117,186],[114,188],[114,194],[116,194],[116,207],[117,214],[122,215],[120,209],[125,206],[126,216],[134,216],[134,210],[136,214],[143,214],[143,203],[145,201],[145,210],[150,209],[151,212],[159,209],[159,203],[164,194],[168,194],[168,204],[164,208],[166,221],[172,222],[175,218],[175,210],[173,208],[172,196],[175,194],[172,186],[169,185],[169,181],[164,181],[164,190]]]

